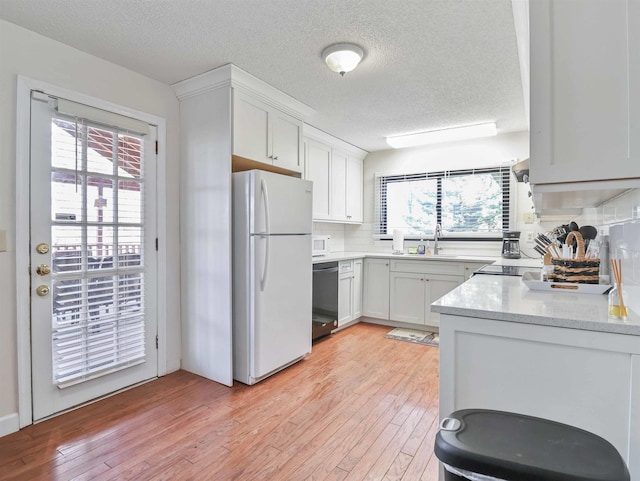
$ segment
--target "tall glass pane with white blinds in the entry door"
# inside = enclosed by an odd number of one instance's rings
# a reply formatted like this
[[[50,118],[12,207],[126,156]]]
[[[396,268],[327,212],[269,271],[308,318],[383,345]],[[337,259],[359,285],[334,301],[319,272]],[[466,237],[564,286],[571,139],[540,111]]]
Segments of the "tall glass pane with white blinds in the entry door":
[[[142,135],[52,118],[52,375],[60,388],[145,360],[143,154]]]

